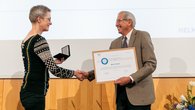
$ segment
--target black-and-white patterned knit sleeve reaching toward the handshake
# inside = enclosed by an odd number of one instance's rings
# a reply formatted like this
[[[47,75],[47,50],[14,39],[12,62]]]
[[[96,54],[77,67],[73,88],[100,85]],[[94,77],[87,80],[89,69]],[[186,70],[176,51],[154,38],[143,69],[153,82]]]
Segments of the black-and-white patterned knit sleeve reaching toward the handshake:
[[[70,78],[74,75],[73,70],[64,69],[56,65],[51,55],[49,45],[44,37],[40,37],[34,45],[34,52],[45,63],[46,68],[55,76]]]

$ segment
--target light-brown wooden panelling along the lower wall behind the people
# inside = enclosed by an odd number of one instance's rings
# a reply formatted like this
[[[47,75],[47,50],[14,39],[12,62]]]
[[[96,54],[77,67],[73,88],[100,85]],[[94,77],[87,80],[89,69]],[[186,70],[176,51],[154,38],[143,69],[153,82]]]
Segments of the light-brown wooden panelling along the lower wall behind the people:
[[[167,97],[174,95],[179,100],[180,95],[186,95],[186,87],[193,80],[195,78],[154,78],[156,101],[152,110],[167,110]],[[0,110],[23,110],[19,101],[21,83],[21,79],[0,79]],[[46,110],[114,110],[114,90],[113,83],[51,79]]]

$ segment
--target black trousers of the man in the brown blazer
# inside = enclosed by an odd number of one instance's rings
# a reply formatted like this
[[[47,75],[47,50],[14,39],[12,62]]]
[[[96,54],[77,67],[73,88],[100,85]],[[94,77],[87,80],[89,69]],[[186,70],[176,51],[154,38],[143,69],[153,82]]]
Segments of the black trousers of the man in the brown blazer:
[[[127,98],[125,86],[120,85],[117,85],[116,105],[117,110],[150,110],[151,107],[151,105],[132,105]]]

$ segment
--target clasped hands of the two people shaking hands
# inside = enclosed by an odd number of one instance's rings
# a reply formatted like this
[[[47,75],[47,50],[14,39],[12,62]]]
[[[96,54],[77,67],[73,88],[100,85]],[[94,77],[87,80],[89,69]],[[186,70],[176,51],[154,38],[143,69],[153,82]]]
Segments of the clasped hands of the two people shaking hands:
[[[76,70],[74,71],[74,76],[80,81],[83,81],[84,79],[87,79],[89,77],[89,72]]]

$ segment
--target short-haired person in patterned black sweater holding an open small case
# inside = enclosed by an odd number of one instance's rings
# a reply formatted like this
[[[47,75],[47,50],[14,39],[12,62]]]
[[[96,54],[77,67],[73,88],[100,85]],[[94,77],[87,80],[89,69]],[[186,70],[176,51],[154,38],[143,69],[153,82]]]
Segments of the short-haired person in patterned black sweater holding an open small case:
[[[63,59],[53,59],[47,40],[41,36],[49,30],[51,10],[43,5],[33,6],[29,13],[32,29],[22,41],[24,78],[20,100],[25,110],[45,110],[45,96],[49,87],[49,71],[60,78],[76,76],[82,79],[80,71],[57,66]]]

